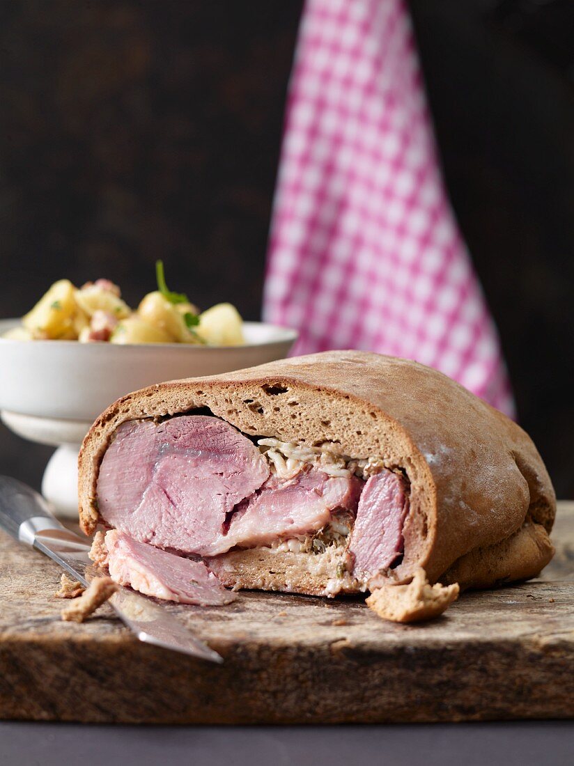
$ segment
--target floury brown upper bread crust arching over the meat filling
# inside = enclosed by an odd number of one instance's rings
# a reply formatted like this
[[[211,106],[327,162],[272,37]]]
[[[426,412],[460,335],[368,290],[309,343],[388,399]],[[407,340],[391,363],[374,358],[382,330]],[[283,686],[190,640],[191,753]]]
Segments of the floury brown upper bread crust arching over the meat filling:
[[[524,522],[540,525],[546,538],[552,528],[552,483],[517,424],[417,362],[338,351],[169,381],[120,398],[93,424],[80,450],[84,532],[91,534],[101,521],[97,477],[116,427],[197,408],[209,408],[245,434],[332,441],[349,457],[382,457],[389,468],[405,471],[410,512],[402,564],[389,573],[395,580],[422,567],[429,581],[438,581],[455,561],[510,538]],[[480,571],[481,557],[473,561],[477,582],[494,584]],[[521,578],[546,563],[547,555],[533,552],[521,562]]]

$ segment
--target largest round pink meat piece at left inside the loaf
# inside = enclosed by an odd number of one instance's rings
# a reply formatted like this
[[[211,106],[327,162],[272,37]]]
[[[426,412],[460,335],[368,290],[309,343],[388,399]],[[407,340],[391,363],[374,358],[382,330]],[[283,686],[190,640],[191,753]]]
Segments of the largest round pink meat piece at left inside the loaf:
[[[268,476],[257,447],[216,417],[130,421],[103,456],[97,497],[101,516],[120,532],[200,553]]]

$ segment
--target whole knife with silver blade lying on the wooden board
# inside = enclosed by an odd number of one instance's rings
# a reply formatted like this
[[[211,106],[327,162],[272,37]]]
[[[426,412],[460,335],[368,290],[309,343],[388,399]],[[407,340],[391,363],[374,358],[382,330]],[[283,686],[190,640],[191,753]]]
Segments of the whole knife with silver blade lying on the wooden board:
[[[61,525],[48,503],[34,489],[9,476],[0,476],[0,529],[15,540],[38,548],[83,585],[103,575],[88,556],[90,544]],[[140,641],[202,660],[223,662],[221,655],[195,638],[164,607],[148,598],[120,588],[109,603]]]

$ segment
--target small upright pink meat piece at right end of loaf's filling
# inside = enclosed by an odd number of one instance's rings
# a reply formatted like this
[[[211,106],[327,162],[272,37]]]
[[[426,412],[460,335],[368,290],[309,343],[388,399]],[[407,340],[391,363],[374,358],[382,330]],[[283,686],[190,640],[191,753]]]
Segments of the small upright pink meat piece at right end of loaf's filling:
[[[402,527],[407,512],[402,476],[385,470],[367,480],[349,545],[355,557],[356,575],[370,578],[399,558],[404,547]]]

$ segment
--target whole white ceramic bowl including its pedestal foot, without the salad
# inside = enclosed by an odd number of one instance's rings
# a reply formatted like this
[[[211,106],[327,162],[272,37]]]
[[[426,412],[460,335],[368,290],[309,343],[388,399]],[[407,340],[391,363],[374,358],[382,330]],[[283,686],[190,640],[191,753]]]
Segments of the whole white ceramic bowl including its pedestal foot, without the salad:
[[[18,319],[0,320],[0,336]],[[63,516],[77,516],[77,452],[97,416],[146,385],[217,375],[287,356],[297,332],[244,322],[245,345],[115,345],[0,337],[0,417],[21,437],[59,447],[42,493]]]

